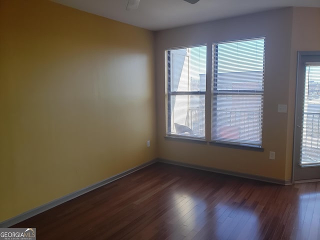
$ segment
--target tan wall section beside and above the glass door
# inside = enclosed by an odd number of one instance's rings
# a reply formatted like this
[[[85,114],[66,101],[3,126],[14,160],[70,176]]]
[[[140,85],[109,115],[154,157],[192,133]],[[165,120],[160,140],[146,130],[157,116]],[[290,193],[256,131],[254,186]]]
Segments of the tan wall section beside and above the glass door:
[[[297,51],[320,51],[320,8],[293,7],[291,39],[286,178],[292,168]]]

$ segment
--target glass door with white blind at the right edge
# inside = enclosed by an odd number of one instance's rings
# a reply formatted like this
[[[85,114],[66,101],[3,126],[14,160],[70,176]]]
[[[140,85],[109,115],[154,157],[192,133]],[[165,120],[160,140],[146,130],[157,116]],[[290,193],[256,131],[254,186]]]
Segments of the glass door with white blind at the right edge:
[[[320,52],[298,54],[293,179],[320,179]]]

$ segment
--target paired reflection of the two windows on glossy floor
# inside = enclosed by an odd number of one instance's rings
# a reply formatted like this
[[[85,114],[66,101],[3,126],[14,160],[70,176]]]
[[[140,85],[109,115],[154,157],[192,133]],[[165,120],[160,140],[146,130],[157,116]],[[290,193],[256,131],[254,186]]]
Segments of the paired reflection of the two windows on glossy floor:
[[[173,193],[175,201],[172,217],[168,222],[172,230],[188,237],[199,237],[209,239],[235,239],[232,231],[236,227],[241,227],[239,239],[250,239],[250,236],[257,235],[259,229],[259,219],[257,213],[262,208],[255,203],[243,204],[232,202],[230,204],[208,201],[188,195],[187,193]],[[243,221],[241,221],[243,219]],[[245,219],[245,220],[244,220]],[[239,222],[243,222],[241,225]],[[205,229],[203,231],[203,229]],[[199,232],[201,235],[199,235]],[[250,236],[247,235],[250,233]],[[198,234],[198,235],[196,235]]]

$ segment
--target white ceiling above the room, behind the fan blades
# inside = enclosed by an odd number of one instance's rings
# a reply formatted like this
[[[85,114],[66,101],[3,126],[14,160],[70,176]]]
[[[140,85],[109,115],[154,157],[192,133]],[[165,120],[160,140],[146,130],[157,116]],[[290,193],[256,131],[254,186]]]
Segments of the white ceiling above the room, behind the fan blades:
[[[149,30],[162,30],[286,6],[320,7],[320,0],[140,0],[125,10],[128,0],[52,0],[82,11]]]

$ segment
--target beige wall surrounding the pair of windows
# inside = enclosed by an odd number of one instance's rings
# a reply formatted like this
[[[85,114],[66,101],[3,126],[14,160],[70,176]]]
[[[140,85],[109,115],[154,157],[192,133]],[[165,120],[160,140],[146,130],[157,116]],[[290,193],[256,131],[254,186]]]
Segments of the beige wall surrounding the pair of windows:
[[[287,113],[278,113],[277,104],[288,104],[291,28],[292,8],[283,8],[157,32],[155,75],[159,157],[289,180],[290,175],[285,174],[286,147],[292,138],[287,139]],[[261,36],[265,36],[264,152],[165,139],[164,50]],[[207,121],[207,128],[209,124]],[[275,160],[268,159],[269,151],[275,151]]]

